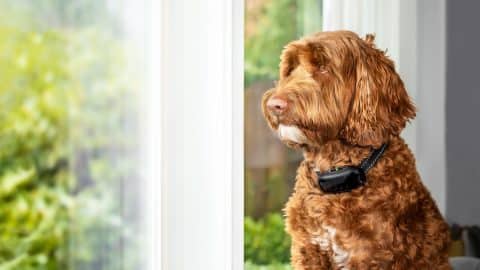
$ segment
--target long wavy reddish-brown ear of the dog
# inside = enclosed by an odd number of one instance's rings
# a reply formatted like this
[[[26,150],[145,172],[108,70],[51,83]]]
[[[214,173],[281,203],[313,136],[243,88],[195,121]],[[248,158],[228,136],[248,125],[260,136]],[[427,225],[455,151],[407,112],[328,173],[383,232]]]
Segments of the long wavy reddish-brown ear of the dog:
[[[415,117],[415,106],[393,62],[375,48],[373,36],[367,35],[359,49],[355,89],[340,137],[351,144],[378,147],[400,134]]]

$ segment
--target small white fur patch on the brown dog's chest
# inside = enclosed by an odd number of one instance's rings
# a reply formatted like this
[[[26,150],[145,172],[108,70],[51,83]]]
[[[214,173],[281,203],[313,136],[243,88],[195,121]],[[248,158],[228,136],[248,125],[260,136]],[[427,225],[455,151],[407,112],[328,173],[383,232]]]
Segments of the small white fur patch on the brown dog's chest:
[[[312,237],[312,244],[320,249],[333,252],[333,261],[339,269],[348,270],[347,262],[350,254],[335,243],[335,228],[323,226],[323,233]]]

